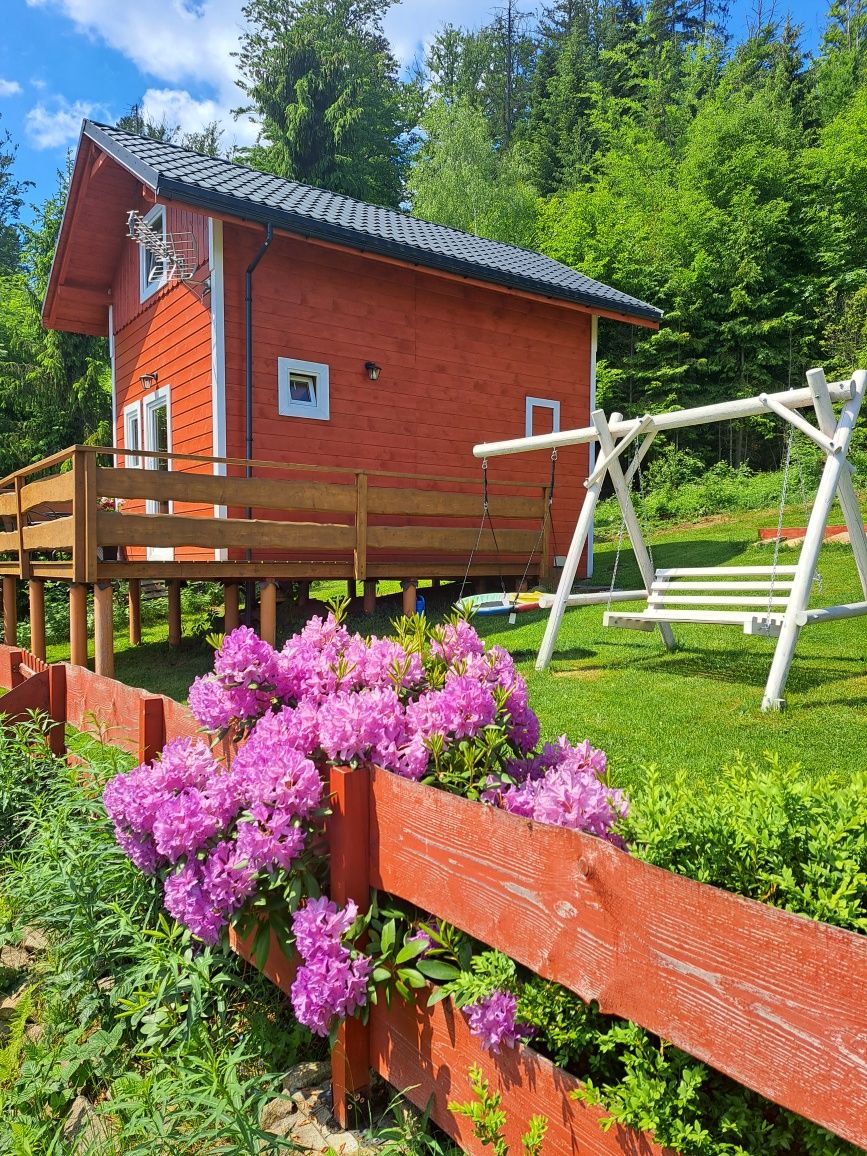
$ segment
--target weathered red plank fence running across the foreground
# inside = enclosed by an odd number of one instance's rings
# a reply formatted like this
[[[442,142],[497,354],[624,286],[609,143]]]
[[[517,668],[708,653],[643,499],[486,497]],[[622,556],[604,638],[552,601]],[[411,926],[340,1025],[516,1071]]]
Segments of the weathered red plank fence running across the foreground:
[[[0,649],[0,681],[14,666],[10,653],[18,652]],[[114,741],[124,719],[139,718],[126,744],[149,747],[148,755],[161,733],[194,729],[170,699],[154,705],[158,696],[80,668],[75,681],[73,669],[73,725],[96,714],[101,733]],[[387,772],[334,769],[331,794],[338,902],[363,906],[375,887],[417,904],[867,1149],[867,936]],[[234,946],[249,957],[245,944]],[[288,991],[294,965],[275,941],[266,972]],[[423,1001],[380,1002],[366,1025],[353,1020],[341,1029],[332,1057],[335,1107],[346,1118],[348,1094],[363,1088],[373,1068],[417,1104],[432,1096],[433,1119],[477,1153],[468,1122],[447,1110],[450,1099],[469,1098],[466,1070],[474,1062],[503,1094],[516,1149],[528,1118],[541,1113],[549,1120],[549,1153],[661,1154],[647,1135],[603,1132],[599,1109],[569,1098],[578,1081],[532,1048],[490,1057],[460,1013]]]

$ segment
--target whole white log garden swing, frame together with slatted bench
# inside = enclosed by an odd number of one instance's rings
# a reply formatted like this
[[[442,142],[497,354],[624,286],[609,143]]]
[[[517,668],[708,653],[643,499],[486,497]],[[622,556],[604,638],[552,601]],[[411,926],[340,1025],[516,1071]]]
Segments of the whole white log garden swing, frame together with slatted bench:
[[[867,391],[867,371],[858,370],[850,381],[829,385],[822,369],[812,369],[807,373],[807,388],[802,390],[763,393],[755,398],[679,409],[668,414],[645,414],[629,421],[624,421],[621,414],[606,417],[601,409],[596,409],[591,415],[593,424],[584,429],[475,446],[473,453],[476,458],[591,443],[598,444],[600,450],[599,460],[584,483],[587,492],[557,592],[540,603],[550,609],[550,616],[536,659],[538,670],[543,670],[550,662],[568,607],[646,598],[647,605],[640,613],[606,612],[605,624],[638,630],[658,629],[668,650],[674,650],[676,645],[672,623],[677,622],[738,625],[744,633],[777,637],[762,710],[780,710],[785,705],[786,680],[803,627],[867,614],[867,534],[852,484],[853,466],[849,461],[852,432]],[[843,402],[839,417],[835,415],[835,402]],[[817,427],[799,413],[809,406],[815,410]],[[665,430],[754,417],[769,410],[800,430],[825,455],[798,564],[778,566],[775,562],[773,566],[675,568],[654,572],[630,492],[630,483],[653,439]],[[640,444],[624,470],[623,451],[637,439],[642,439]],[[610,477],[617,496],[644,587],[637,591],[617,591],[613,595],[571,594],[606,476]],[[835,497],[839,498],[843,509],[865,600],[809,609],[818,554]],[[778,581],[778,578],[783,580]],[[777,595],[777,591],[783,593]]]

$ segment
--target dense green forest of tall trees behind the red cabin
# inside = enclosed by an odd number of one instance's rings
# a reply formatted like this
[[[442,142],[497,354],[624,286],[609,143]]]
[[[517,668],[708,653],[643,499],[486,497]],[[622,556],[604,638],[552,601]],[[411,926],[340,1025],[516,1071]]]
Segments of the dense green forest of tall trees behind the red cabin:
[[[250,0],[236,58],[260,125],[230,158],[536,249],[665,311],[605,324],[599,400],[625,414],[783,390],[867,364],[867,3],[835,0],[814,53],[725,0],[505,0],[401,71],[391,0]],[[119,124],[210,154],[139,109]],[[0,128],[2,125],[0,124]],[[23,223],[0,136],[0,470],[110,437],[104,341],[39,320],[68,169]],[[694,432],[705,464],[778,465],[772,421]]]

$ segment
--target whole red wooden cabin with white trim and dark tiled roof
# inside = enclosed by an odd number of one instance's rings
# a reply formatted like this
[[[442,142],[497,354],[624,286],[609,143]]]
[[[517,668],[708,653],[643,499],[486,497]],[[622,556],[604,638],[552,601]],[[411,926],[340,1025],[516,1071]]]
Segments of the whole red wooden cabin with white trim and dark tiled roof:
[[[437,479],[472,475],[477,442],[586,424],[599,317],[655,327],[660,313],[536,253],[91,121],[44,310],[50,327],[110,339],[119,465],[165,468],[140,451],[166,450]],[[558,467],[561,542],[586,452]],[[534,457],[491,477],[541,487]],[[464,489],[481,512],[481,479]]]

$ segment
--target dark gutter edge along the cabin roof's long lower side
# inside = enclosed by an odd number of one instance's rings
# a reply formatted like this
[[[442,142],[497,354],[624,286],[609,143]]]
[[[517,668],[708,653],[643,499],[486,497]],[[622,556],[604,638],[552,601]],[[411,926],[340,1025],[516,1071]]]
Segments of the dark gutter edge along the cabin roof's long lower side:
[[[184,201],[187,205],[198,205],[202,208],[215,209],[225,213],[228,216],[257,221],[261,224],[271,223],[302,237],[313,237],[318,240],[332,242],[333,244],[343,247],[349,246],[362,252],[393,257],[412,265],[442,269],[445,273],[454,273],[476,281],[487,281],[509,289],[519,289],[524,292],[532,292],[538,297],[547,297],[551,301],[570,301],[587,309],[609,311],[625,317],[640,317],[655,323],[662,317],[661,310],[654,309],[652,305],[633,304],[632,302],[617,301],[616,298],[606,301],[603,297],[585,294],[576,289],[558,289],[556,286],[546,286],[535,277],[524,277],[520,274],[490,269],[473,261],[461,261],[459,258],[435,253],[430,250],[420,251],[412,245],[405,245],[400,242],[375,237],[368,232],[347,229],[342,225],[332,225],[327,221],[318,221],[309,216],[303,216],[299,213],[292,213],[289,209],[257,205],[254,201],[244,200],[231,193],[220,193],[210,188],[202,188],[199,185],[192,185],[184,180],[160,176],[156,181],[156,194],[157,197],[165,197],[169,200]]]

